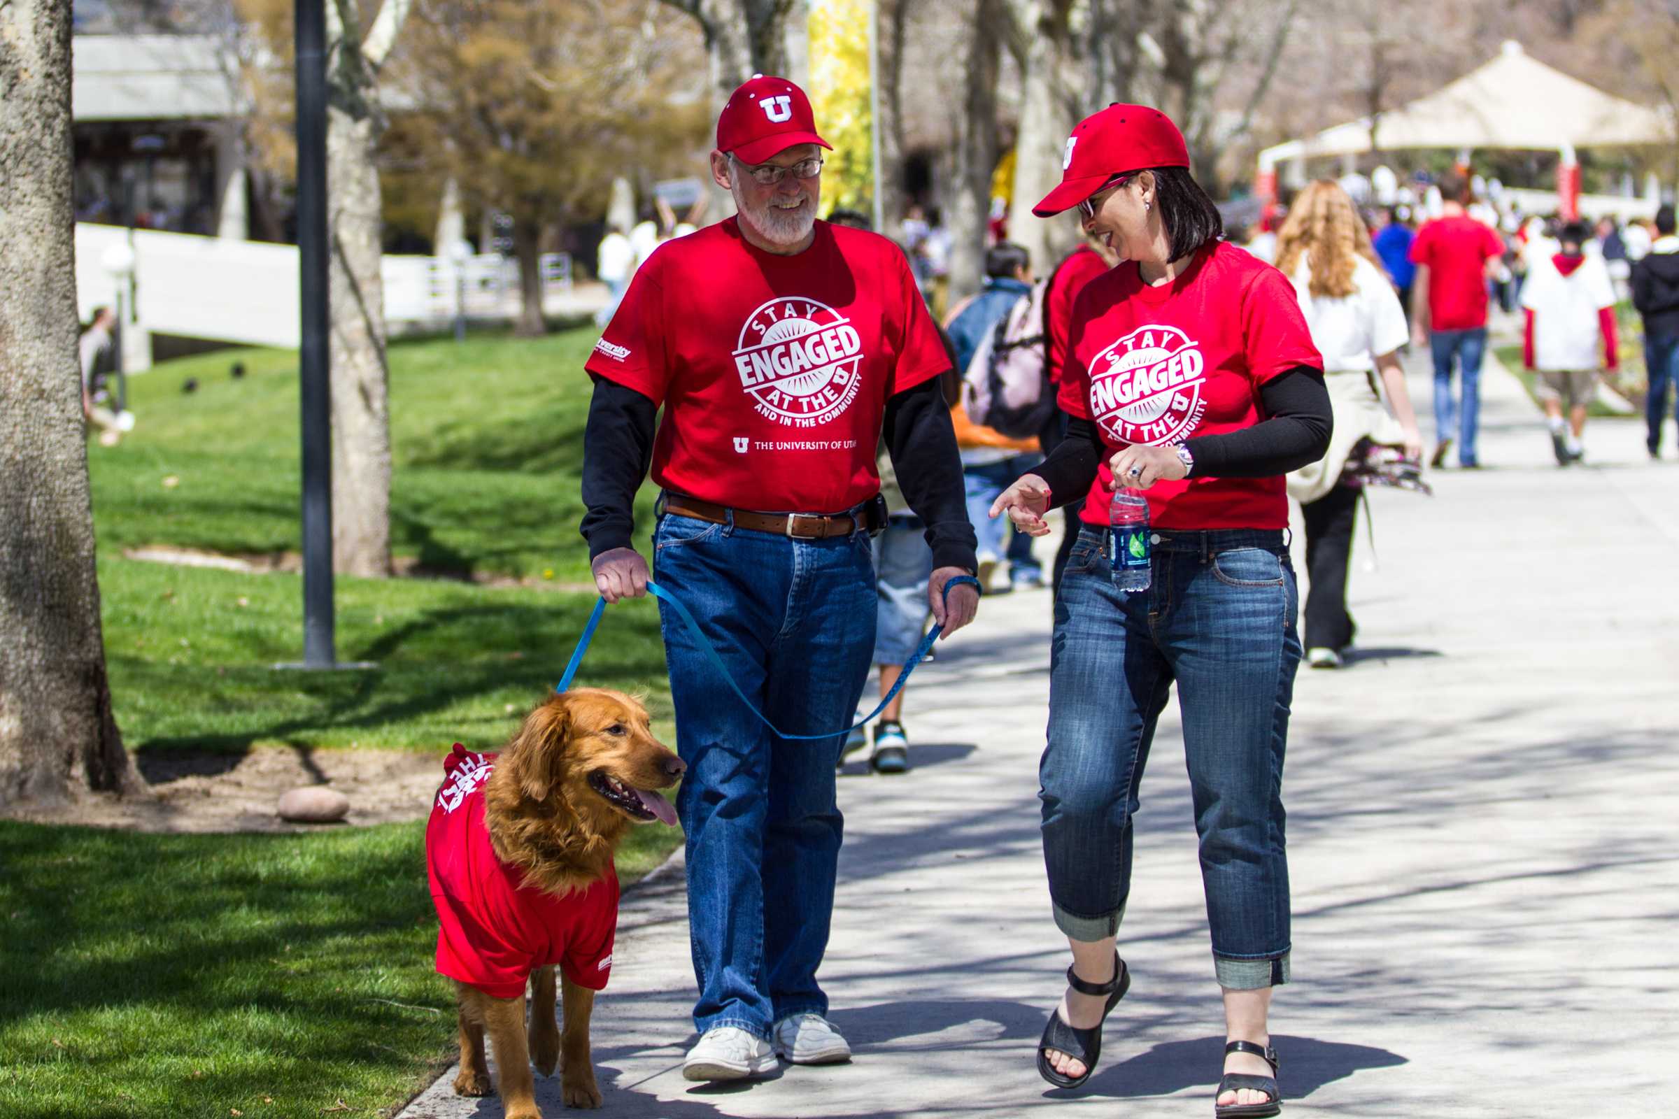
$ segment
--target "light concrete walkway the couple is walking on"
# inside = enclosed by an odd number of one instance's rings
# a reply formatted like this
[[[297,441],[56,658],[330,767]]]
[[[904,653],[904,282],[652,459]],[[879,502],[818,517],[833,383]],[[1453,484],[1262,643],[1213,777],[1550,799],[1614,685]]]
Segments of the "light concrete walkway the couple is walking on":
[[[1301,669],[1295,983],[1273,1013],[1286,1114],[1679,1114],[1679,465],[1645,461],[1642,423],[1593,421],[1592,465],[1558,470],[1514,377],[1489,362],[1484,394],[1488,468],[1432,471],[1432,500],[1372,495],[1360,651]],[[604,1114],[1211,1116],[1222,1020],[1175,705],[1120,934],[1132,993],[1081,1092],[1034,1072],[1066,966],[1038,841],[1048,659],[1048,594],[987,599],[915,674],[913,772],[841,780],[821,978],[853,1064],[682,1080],[693,976],[672,876],[621,914],[594,1020]],[[502,1114],[452,1079],[403,1114]],[[562,1112],[557,1079],[539,1101]]]

